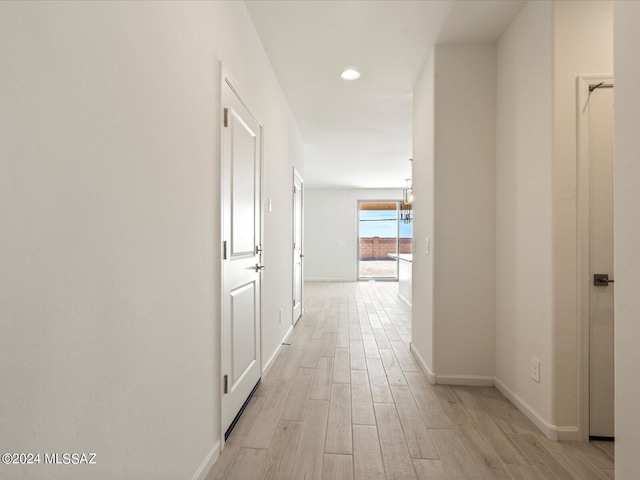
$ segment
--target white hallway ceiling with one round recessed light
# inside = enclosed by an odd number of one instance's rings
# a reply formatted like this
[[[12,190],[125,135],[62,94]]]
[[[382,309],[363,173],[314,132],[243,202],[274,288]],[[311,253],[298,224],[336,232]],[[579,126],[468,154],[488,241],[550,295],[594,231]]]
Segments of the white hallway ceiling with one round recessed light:
[[[435,43],[492,42],[525,0],[245,1],[307,146],[312,188],[403,187]],[[345,81],[340,73],[362,73]]]

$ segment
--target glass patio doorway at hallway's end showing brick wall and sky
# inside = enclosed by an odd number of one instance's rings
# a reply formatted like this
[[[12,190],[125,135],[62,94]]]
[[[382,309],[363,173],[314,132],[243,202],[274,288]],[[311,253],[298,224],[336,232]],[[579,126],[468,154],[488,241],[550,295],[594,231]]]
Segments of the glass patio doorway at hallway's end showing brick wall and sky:
[[[398,280],[399,254],[411,253],[410,222],[399,201],[358,201],[358,279]]]

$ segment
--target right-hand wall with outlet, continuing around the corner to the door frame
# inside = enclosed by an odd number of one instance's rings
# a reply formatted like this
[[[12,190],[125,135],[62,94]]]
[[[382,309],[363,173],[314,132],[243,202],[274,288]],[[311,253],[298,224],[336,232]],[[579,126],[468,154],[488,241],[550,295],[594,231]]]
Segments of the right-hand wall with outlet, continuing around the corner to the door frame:
[[[578,414],[576,77],[611,74],[612,34],[610,2],[529,2],[498,42],[496,376],[561,438]]]

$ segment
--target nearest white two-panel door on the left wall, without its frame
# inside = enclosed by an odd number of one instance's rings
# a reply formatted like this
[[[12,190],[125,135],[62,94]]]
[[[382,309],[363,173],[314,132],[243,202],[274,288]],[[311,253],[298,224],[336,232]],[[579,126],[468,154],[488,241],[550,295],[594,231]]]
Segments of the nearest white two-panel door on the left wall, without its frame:
[[[225,79],[222,90],[222,426],[260,379],[261,127]]]

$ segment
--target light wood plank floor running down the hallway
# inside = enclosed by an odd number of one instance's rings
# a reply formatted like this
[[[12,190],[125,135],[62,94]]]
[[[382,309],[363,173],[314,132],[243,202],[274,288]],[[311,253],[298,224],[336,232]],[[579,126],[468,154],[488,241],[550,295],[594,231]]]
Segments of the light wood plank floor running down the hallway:
[[[430,385],[397,288],[306,284],[207,480],[614,478],[613,443],[552,442],[493,387]]]

